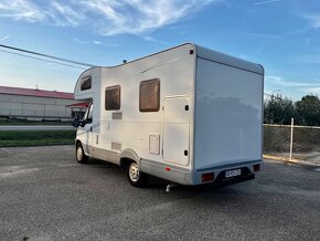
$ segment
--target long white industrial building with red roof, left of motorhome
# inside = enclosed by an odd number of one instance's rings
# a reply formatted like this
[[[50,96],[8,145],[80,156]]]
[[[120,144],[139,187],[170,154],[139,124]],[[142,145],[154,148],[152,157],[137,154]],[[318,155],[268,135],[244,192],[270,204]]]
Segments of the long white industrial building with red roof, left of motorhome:
[[[86,107],[73,93],[0,86],[0,117],[70,120]]]

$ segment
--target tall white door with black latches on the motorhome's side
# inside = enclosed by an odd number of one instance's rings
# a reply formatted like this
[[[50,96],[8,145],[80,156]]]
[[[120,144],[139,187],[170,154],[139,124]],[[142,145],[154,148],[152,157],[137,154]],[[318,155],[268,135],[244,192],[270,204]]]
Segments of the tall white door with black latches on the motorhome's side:
[[[164,98],[163,160],[181,166],[189,165],[189,99]]]

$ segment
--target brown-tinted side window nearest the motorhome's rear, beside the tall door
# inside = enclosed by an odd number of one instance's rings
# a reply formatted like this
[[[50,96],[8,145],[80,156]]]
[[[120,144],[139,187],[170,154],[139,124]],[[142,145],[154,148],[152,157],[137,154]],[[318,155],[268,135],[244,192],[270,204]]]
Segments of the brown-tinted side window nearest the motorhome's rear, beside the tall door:
[[[140,112],[158,112],[160,108],[160,80],[153,78],[140,83]]]

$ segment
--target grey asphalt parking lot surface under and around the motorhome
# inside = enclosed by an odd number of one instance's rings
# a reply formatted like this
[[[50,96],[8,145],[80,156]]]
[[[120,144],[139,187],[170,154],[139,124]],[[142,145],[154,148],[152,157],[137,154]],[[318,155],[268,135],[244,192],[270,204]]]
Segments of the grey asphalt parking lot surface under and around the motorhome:
[[[73,146],[0,148],[0,240],[320,240],[320,172],[266,161],[255,180],[214,188],[79,165]]]

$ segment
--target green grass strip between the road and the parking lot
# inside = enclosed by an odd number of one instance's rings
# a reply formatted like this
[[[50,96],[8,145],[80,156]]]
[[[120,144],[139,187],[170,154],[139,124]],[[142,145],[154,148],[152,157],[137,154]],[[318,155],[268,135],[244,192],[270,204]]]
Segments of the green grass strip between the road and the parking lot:
[[[74,144],[76,130],[2,130],[0,147]]]

